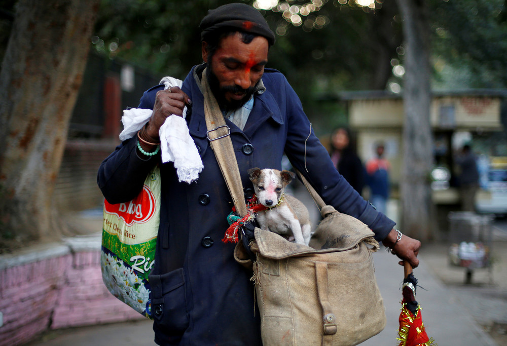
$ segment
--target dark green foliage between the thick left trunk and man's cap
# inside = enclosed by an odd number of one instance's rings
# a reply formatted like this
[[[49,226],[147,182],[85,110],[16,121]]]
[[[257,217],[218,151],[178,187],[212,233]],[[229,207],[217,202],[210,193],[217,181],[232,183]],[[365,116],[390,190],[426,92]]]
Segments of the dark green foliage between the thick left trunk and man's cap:
[[[160,75],[185,78],[201,62],[199,23],[220,0],[103,0],[93,46]]]

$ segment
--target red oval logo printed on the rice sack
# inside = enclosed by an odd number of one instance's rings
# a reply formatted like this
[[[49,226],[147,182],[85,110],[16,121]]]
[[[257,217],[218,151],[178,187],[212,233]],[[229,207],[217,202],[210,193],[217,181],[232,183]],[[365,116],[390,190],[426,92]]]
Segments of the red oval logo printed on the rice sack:
[[[148,222],[155,214],[157,202],[150,188],[144,185],[141,193],[132,201],[119,204],[104,201],[104,206],[106,213],[118,216],[127,226],[131,226],[134,223]]]

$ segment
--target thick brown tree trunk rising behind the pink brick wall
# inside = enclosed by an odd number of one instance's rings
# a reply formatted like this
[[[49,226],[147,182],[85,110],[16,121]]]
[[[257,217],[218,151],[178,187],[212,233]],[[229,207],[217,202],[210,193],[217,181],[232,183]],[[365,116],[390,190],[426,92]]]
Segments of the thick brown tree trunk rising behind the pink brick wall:
[[[52,205],[98,0],[19,0],[0,72],[0,243],[59,236]]]

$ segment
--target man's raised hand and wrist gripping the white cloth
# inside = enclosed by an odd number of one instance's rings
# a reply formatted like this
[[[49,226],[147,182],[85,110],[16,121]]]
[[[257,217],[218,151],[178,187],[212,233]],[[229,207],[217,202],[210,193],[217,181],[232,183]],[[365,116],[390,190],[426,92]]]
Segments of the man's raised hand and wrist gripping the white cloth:
[[[164,124],[165,119],[172,114],[183,117],[183,109],[187,104],[192,104],[192,101],[179,87],[171,87],[157,92],[153,115],[146,128],[147,135],[158,139],[160,127]]]

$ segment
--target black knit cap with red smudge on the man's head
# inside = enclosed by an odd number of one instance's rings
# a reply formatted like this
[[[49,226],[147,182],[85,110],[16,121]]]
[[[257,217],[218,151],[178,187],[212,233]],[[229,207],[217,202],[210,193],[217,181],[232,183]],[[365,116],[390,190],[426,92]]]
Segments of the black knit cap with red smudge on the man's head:
[[[275,34],[269,28],[266,19],[255,8],[246,4],[227,4],[214,10],[209,10],[208,14],[202,19],[201,39],[215,30],[224,28],[234,28],[239,31],[245,31],[252,34],[266,37],[269,45],[275,43]]]

